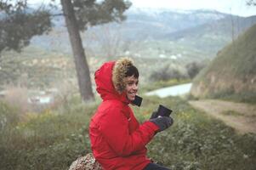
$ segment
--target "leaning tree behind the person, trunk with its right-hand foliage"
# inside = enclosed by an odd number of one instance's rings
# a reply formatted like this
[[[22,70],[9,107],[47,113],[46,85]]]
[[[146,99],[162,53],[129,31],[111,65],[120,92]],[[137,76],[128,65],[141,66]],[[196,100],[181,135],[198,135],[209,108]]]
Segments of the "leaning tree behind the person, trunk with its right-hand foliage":
[[[6,2],[10,1],[6,0]],[[54,0],[52,1],[54,2]],[[20,0],[16,4],[20,2],[25,2],[24,6],[27,7],[26,0]],[[6,4],[8,6],[10,3]],[[95,0],[60,0],[60,4],[71,41],[82,100],[93,100],[94,94],[89,76],[88,62],[82,47],[79,31],[85,31],[90,26],[125,20],[126,17],[123,12],[130,7],[131,3],[124,0],[105,0],[100,3]]]

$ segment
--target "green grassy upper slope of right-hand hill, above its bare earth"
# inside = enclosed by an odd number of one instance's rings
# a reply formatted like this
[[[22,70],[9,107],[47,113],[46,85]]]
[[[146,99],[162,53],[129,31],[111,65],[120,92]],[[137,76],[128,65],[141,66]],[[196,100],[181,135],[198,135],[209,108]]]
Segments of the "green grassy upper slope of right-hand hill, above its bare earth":
[[[252,26],[236,40],[219,51],[216,58],[209,65],[208,71],[214,71],[218,75],[243,78],[255,75],[255,31]],[[226,65],[229,64],[227,67]]]

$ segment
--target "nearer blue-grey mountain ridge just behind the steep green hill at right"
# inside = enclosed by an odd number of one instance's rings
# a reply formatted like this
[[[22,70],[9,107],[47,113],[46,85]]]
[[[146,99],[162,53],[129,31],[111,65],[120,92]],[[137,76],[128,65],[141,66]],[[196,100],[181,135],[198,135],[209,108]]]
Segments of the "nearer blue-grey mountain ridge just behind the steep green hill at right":
[[[216,53],[220,48],[225,47],[225,44],[236,39],[239,34],[255,23],[256,16],[228,15],[225,18],[213,20],[201,26],[169,33],[162,38],[165,37],[168,40],[181,42],[192,48]]]

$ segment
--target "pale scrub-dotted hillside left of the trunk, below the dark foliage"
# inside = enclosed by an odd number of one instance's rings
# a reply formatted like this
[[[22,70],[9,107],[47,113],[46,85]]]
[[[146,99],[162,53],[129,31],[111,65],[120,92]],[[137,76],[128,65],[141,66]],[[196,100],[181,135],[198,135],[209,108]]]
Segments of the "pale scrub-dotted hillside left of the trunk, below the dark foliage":
[[[0,90],[10,84],[27,88],[46,88],[61,79],[75,79],[71,57],[48,52],[42,48],[27,47],[21,53],[3,51],[0,59]]]

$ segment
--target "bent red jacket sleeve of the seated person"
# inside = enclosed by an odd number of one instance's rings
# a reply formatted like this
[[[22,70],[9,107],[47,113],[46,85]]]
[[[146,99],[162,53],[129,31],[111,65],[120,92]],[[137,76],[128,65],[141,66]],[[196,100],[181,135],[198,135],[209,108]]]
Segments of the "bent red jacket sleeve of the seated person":
[[[112,108],[100,120],[100,132],[118,156],[128,156],[149,143],[159,128],[152,122],[139,125],[134,133],[128,131],[128,118],[121,109]]]

